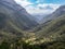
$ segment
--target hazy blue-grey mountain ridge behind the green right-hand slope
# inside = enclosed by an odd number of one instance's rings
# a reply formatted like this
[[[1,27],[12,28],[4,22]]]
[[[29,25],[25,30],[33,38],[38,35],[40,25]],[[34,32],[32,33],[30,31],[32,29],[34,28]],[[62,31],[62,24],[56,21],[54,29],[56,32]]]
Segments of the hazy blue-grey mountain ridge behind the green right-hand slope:
[[[56,9],[53,13],[47,15],[41,20],[41,23],[54,20],[56,17],[60,17],[61,15],[65,14],[65,5],[61,5],[58,9]]]

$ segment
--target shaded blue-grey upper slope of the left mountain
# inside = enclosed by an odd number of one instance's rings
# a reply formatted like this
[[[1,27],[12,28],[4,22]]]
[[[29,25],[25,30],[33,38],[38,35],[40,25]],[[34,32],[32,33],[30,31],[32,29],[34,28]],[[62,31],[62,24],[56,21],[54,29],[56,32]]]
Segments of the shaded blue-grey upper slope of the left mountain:
[[[1,0],[0,7],[0,13],[6,15],[6,19],[10,19],[17,27],[28,29],[37,26],[37,22],[32,17],[29,19],[31,15],[13,0]]]

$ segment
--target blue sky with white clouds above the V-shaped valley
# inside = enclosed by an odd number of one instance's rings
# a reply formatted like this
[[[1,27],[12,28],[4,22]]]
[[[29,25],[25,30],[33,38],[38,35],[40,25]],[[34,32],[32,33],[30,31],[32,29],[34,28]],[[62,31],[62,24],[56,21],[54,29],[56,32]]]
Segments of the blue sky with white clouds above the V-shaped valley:
[[[15,0],[30,14],[50,14],[60,5],[65,4],[65,0]]]

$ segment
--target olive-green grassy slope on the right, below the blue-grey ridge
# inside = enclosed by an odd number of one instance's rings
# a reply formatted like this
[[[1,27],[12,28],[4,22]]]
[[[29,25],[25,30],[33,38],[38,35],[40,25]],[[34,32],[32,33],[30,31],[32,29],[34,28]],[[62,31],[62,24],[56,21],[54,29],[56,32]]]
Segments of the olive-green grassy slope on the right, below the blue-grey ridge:
[[[62,40],[62,37],[65,36],[65,15],[50,21],[42,27],[41,30],[37,32],[36,34],[39,38],[50,38],[54,40],[57,38],[57,40]]]

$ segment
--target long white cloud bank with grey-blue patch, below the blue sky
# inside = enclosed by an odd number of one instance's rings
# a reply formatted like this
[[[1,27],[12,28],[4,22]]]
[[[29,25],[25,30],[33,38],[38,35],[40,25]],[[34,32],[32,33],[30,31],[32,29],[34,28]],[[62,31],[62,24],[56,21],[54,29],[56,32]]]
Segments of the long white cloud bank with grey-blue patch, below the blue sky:
[[[26,10],[30,13],[30,14],[49,14],[52,13],[53,11],[55,11],[57,8],[60,7],[60,4],[38,4],[36,7],[32,5],[28,5],[26,8]]]

